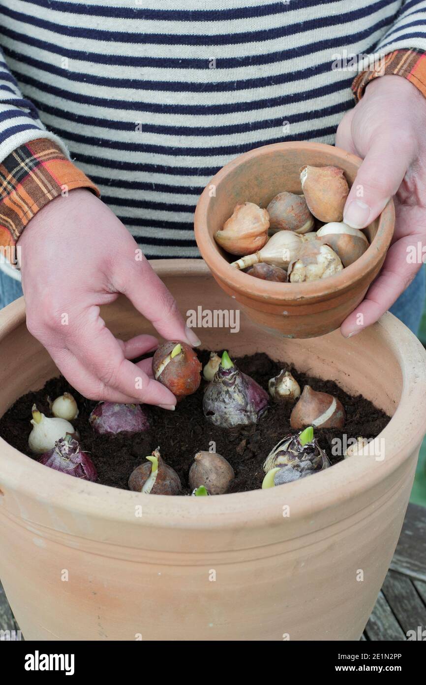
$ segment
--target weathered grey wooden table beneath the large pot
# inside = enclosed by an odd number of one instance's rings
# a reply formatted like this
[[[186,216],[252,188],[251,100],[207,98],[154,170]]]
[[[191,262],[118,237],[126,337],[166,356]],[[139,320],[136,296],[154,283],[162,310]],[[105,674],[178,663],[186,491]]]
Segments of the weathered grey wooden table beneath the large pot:
[[[407,640],[426,629],[426,508],[408,506],[401,537],[361,640]],[[0,630],[18,625],[0,584]],[[426,633],[424,638],[426,638]]]

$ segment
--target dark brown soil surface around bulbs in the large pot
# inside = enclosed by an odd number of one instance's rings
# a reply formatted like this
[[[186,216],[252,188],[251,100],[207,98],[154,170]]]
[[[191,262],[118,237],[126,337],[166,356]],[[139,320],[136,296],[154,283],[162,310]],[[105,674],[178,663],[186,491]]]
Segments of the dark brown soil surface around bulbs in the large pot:
[[[209,353],[198,351],[198,356],[204,366]],[[375,438],[390,421],[390,416],[375,408],[362,395],[351,397],[336,383],[299,373],[293,366],[274,362],[264,353],[239,358],[236,363],[241,371],[252,376],[265,390],[269,378],[278,375],[280,369],[288,369],[301,388],[308,384],[314,390],[330,393],[340,399],[346,410],[343,431],[315,429],[315,436],[332,464],[341,461],[341,456],[333,455],[333,438],[343,439],[343,434],[347,436],[347,440],[358,436]],[[144,410],[148,413],[151,425],[147,432],[134,436],[98,436],[88,423],[96,402],[77,393],[64,377],[53,378],[42,390],[20,397],[1,417],[0,436],[29,457],[36,458],[29,452],[27,443],[31,431],[31,406],[36,403],[39,410],[50,416],[47,397],[55,399],[67,390],[72,393],[79,406],[79,416],[72,424],[79,430],[81,445],[90,453],[96,466],[98,483],[127,490],[127,482],[133,469],[159,446],[161,456],[177,471],[185,492],[189,493],[188,472],[194,455],[200,450],[209,450],[210,443],[213,442],[213,451],[222,454],[235,470],[235,480],[230,492],[239,493],[260,488],[265,458],[276,443],[291,432],[289,419],[293,405],[278,405],[271,401],[269,409],[257,425],[221,429],[211,425],[202,413],[202,395],[206,385],[203,380],[197,392],[179,402],[174,412],[145,405]]]

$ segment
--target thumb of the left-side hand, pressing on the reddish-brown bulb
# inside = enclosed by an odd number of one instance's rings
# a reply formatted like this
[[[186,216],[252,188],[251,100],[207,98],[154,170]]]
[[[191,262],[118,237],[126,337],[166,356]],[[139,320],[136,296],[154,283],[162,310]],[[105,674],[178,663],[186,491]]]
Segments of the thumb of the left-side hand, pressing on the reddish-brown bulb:
[[[147,260],[135,262],[133,268],[128,269],[124,282],[114,282],[114,286],[149,319],[165,340],[183,340],[194,347],[201,345],[198,336],[185,325],[174,297]]]

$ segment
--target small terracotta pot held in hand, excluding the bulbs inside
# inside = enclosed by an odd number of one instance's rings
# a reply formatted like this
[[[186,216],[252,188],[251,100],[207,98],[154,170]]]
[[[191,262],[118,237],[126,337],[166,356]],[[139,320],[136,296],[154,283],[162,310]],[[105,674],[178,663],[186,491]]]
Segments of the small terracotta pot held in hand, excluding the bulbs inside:
[[[253,321],[289,338],[322,336],[338,328],[362,301],[384,262],[395,225],[392,200],[364,233],[371,245],[354,264],[329,279],[310,283],[272,283],[254,279],[229,262],[234,258],[213,235],[239,202],[265,208],[278,192],[301,193],[304,164],[339,166],[349,186],[362,160],[317,142],[279,142],[247,152],[223,167],[202,192],[195,214],[200,253],[217,283],[239,301]]]

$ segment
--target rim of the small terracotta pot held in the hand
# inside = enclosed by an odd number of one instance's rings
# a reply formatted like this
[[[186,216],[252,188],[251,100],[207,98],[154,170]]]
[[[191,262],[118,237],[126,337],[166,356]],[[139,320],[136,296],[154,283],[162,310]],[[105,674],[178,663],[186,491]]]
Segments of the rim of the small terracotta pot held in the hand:
[[[264,299],[282,302],[306,301],[308,299],[309,301],[321,301],[322,299],[338,297],[338,295],[349,290],[355,282],[365,278],[369,273],[377,269],[377,264],[380,263],[384,253],[386,253],[393,236],[395,207],[391,199],[380,215],[377,234],[373,242],[371,242],[370,247],[354,264],[347,266],[346,269],[328,279],[312,283],[271,283],[256,279],[258,283],[256,283],[256,291],[254,291],[253,277],[230,266],[220,253],[213,236],[209,234],[207,229],[207,208],[211,199],[209,196],[209,186],[211,184],[217,186],[230,171],[247,160],[268,155],[276,150],[285,152],[297,149],[312,149],[312,151],[323,151],[324,153],[333,151],[334,155],[337,155],[342,160],[349,160],[358,167],[362,162],[356,155],[325,143],[293,141],[263,145],[245,152],[228,162],[228,164],[225,164],[207,184],[198,200],[194,229],[197,245],[205,262],[207,262],[215,277],[224,281],[228,287],[235,288],[238,292],[248,292],[252,299],[259,301]]]

